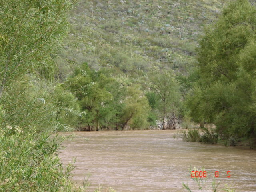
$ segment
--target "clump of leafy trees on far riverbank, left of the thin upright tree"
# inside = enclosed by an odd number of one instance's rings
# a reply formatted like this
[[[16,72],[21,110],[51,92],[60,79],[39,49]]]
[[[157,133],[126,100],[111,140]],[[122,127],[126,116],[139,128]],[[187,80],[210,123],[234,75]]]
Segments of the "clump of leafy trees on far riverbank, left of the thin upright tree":
[[[63,86],[74,94],[84,114],[77,122],[82,130],[148,128],[150,106],[139,85],[118,82],[108,72],[96,72],[84,63]]]

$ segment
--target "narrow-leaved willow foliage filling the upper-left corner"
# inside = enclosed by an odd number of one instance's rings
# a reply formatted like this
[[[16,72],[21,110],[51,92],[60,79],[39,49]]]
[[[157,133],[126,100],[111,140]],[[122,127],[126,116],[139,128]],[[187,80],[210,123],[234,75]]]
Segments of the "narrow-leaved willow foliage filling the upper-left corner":
[[[71,0],[0,0],[0,98],[20,75],[53,76]]]

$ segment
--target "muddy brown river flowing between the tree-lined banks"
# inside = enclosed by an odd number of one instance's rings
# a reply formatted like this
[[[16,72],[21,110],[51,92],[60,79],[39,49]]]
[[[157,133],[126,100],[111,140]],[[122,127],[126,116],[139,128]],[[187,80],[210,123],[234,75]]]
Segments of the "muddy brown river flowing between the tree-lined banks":
[[[183,142],[174,132],[73,132],[59,156],[64,164],[76,157],[74,182],[82,184],[90,173],[90,192],[99,185],[103,191],[111,186],[118,192],[186,192],[182,183],[197,192],[190,166],[205,168],[207,188],[218,171],[219,189],[227,184],[236,192],[256,192],[256,150]]]

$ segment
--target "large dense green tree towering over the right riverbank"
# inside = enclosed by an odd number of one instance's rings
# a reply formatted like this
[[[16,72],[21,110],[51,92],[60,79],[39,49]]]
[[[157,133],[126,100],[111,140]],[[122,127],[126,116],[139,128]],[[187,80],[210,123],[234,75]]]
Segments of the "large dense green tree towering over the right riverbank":
[[[199,80],[188,100],[195,121],[213,122],[227,137],[256,135],[256,8],[236,0],[205,30]]]

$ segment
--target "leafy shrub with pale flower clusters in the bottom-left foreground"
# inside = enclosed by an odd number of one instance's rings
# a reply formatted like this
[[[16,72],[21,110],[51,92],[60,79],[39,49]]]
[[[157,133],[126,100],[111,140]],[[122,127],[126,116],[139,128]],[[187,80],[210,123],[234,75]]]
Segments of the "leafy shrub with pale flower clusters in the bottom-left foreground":
[[[0,191],[82,192],[69,180],[74,167],[69,164],[64,169],[57,156],[62,140],[20,126],[1,126]]]

